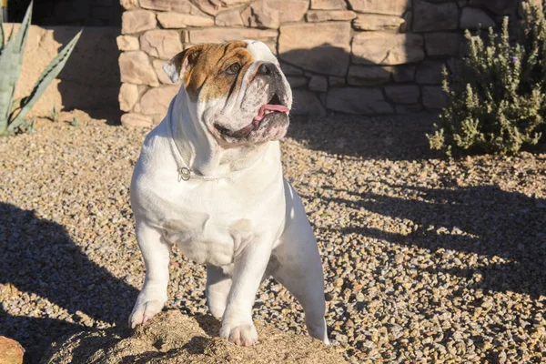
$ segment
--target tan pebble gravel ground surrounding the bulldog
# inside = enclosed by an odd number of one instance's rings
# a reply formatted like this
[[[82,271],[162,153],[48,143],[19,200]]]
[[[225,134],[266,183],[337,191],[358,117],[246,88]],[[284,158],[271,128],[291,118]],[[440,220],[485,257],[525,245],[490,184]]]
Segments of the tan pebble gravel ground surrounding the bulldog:
[[[128,186],[147,130],[78,117],[0,139],[0,334],[29,362],[76,329],[125,325],[144,278]],[[431,122],[301,120],[283,142],[331,339],[352,362],[545,362],[546,154],[440,159]],[[205,313],[204,288],[175,250],[168,306]],[[274,281],[255,318],[305,331]]]

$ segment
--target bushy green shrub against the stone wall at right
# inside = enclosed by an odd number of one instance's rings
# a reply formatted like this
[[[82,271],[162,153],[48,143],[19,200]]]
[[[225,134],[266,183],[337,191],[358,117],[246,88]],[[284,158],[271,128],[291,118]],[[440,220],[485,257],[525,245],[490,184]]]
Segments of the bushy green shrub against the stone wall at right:
[[[448,106],[427,135],[430,148],[515,154],[541,139],[546,117],[546,20],[541,5],[523,2],[523,21],[511,45],[508,17],[487,44],[467,30],[470,52],[443,70]]]

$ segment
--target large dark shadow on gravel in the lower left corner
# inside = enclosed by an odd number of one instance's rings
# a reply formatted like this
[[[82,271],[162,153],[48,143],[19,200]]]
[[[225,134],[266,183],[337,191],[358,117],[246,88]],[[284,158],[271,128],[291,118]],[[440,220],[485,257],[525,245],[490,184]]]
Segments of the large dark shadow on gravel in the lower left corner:
[[[10,307],[7,298],[18,296],[15,309],[35,304],[33,318],[0,309],[0,335],[25,347],[26,362],[37,362],[52,341],[81,329],[88,318],[126,324],[138,291],[89,260],[65,227],[35,217],[34,211],[0,203],[0,237],[1,300]],[[68,315],[49,319],[55,308],[29,299],[31,295],[65,308]]]

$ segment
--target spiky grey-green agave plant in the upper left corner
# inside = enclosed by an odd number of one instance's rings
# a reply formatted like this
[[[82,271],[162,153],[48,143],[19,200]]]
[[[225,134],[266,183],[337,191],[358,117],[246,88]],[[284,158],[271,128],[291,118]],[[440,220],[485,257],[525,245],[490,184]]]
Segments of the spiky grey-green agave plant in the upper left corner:
[[[4,30],[1,26],[2,12],[0,12],[0,70],[2,70],[0,72],[0,136],[9,135],[25,125],[26,113],[35,105],[40,96],[44,94],[47,86],[66,65],[68,57],[82,34],[82,31],[79,31],[45,68],[29,96],[14,100],[15,86],[23,64],[26,35],[28,35],[30,28],[32,5],[32,2],[28,5],[19,31],[15,36],[15,32],[12,31],[6,45],[4,45]]]

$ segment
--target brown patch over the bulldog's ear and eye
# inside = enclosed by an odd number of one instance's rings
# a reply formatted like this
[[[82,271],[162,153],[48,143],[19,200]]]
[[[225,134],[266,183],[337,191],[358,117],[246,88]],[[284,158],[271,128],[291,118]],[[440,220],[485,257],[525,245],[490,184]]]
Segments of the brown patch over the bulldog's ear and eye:
[[[195,45],[174,56],[167,65],[180,75],[193,101],[228,97],[238,93],[243,76],[252,65],[247,45],[241,41]],[[227,69],[235,63],[240,65],[240,69],[237,74],[230,75]]]

